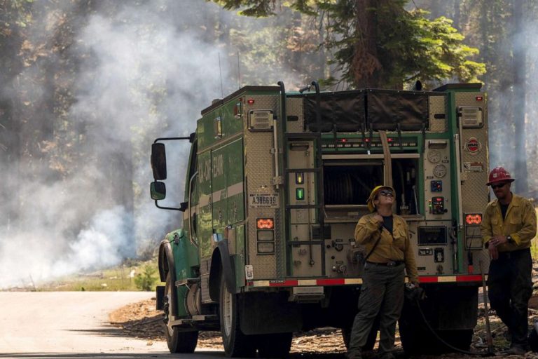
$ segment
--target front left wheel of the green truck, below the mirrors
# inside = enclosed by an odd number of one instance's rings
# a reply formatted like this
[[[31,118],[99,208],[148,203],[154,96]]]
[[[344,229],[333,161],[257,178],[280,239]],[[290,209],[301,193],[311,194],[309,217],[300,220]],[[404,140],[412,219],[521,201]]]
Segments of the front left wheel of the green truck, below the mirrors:
[[[198,344],[198,331],[181,332],[178,327],[171,325],[172,303],[176,303],[176,292],[173,289],[172,274],[167,273],[164,297],[166,344],[170,353],[193,353]]]

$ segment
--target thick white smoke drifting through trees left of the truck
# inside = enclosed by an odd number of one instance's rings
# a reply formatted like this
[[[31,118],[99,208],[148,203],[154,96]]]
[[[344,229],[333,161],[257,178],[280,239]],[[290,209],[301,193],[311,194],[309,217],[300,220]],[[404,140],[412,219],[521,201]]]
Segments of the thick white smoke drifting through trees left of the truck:
[[[67,121],[84,126],[81,143],[91,149],[92,156],[75,159],[76,172],[53,182],[45,181],[46,171],[35,165],[18,166],[19,178],[13,180],[17,194],[0,198],[9,217],[6,226],[0,227],[0,288],[119,264],[135,257],[141,243],[156,245],[167,231],[180,226],[180,212],[158,210],[149,198],[151,142],[155,137],[188,136],[195,131],[201,109],[212,99],[237,90],[237,63],[229,65],[227,60],[237,50],[227,43],[205,41],[203,32],[182,29],[184,24],[200,21],[196,17],[202,7],[219,14],[221,21],[237,15],[198,0],[116,4],[121,5],[115,15],[97,13],[81,22],[76,39],[81,51],[72,50],[71,55],[81,65],[76,101]],[[46,19],[35,19],[35,36],[52,38],[62,12],[71,10],[66,6]],[[47,93],[45,88],[36,88],[39,81],[32,81],[35,66],[24,70],[25,76],[20,76],[24,81],[18,85],[32,88],[34,99]],[[273,76],[249,85],[274,85],[281,79],[298,83],[295,76],[287,77],[281,70]],[[50,116],[55,114],[43,112],[43,118]],[[177,206],[184,200],[189,147],[187,141],[174,151],[167,147],[167,189],[172,199],[163,205]],[[147,155],[132,157],[139,153]],[[104,158],[130,158],[133,173],[125,174],[120,168],[103,172],[99,161]],[[46,168],[48,164],[40,165]],[[121,183],[134,188],[132,211],[111,201]],[[8,215],[13,208],[23,211]]]

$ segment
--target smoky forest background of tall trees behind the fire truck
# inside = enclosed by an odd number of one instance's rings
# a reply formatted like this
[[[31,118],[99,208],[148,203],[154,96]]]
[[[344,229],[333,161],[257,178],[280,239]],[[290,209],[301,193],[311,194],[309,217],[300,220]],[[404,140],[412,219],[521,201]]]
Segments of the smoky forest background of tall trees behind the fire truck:
[[[532,0],[0,0],[0,288],[151,254],[178,220],[149,199],[151,142],[245,85],[480,81],[490,166],[536,197],[537,20]]]

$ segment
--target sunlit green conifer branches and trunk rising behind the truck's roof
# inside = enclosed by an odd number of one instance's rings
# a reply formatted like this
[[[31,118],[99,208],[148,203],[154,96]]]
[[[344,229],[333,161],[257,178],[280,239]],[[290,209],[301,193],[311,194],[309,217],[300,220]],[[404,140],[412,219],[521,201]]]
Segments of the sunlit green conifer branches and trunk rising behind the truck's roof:
[[[341,72],[338,78],[325,79],[326,85],[344,81],[350,87],[402,88],[416,79],[478,81],[485,73],[485,64],[472,60],[478,49],[464,44],[464,36],[452,26],[452,20],[443,16],[428,20],[427,11],[420,9],[406,11],[405,0],[216,3],[257,17],[274,15],[277,4],[310,16],[324,14],[328,35],[323,45],[333,53],[329,63]]]

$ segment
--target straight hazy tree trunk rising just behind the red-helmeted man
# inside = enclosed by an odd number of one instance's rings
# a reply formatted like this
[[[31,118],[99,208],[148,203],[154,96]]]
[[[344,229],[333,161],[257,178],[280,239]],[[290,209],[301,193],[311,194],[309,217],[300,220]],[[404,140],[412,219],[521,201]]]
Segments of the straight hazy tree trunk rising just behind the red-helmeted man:
[[[525,58],[527,50],[522,46],[525,41],[517,39],[525,36],[523,25],[523,1],[513,1],[513,121],[516,134],[516,188],[521,194],[527,194],[527,151],[525,136]]]

